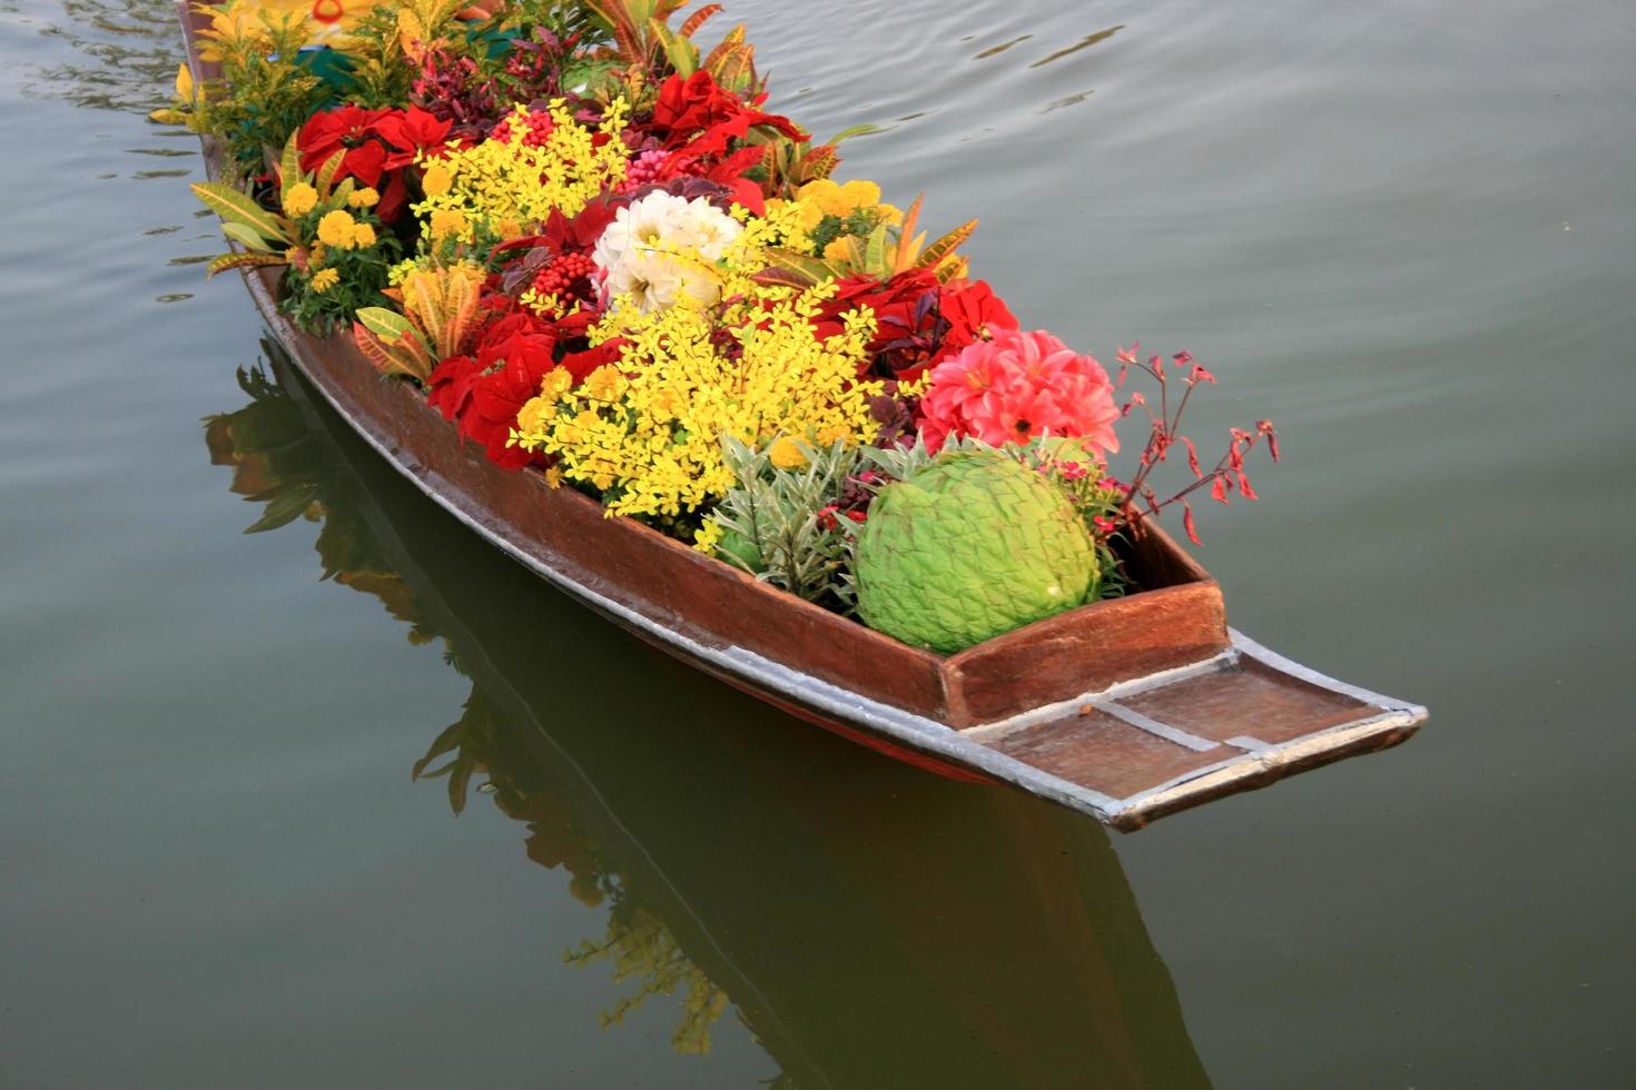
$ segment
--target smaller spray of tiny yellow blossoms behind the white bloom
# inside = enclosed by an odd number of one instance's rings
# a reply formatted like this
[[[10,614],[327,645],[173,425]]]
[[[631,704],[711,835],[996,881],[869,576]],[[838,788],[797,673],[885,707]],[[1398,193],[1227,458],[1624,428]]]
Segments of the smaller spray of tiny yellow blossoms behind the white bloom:
[[[474,242],[474,226],[509,239],[545,222],[553,209],[576,216],[602,190],[625,178],[630,152],[620,139],[630,106],[615,98],[597,127],[574,121],[564,100],[551,100],[551,134],[530,145],[520,139],[455,147],[425,163],[425,199],[412,206],[432,239]],[[527,131],[519,105],[514,131]],[[607,139],[597,147],[597,136]]]

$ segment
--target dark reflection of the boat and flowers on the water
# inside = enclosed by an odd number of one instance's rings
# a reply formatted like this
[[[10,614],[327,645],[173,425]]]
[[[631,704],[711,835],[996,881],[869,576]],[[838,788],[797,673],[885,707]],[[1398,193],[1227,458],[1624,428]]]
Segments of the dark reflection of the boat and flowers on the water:
[[[703,1052],[731,1005],[780,1085],[1207,1085],[1101,825],[854,747],[591,616],[263,348],[211,459],[254,529],[316,520],[326,577],[445,642],[471,698],[414,770],[456,812],[488,794],[607,910],[564,954],[625,984],[605,1025],[677,995],[676,1048]]]

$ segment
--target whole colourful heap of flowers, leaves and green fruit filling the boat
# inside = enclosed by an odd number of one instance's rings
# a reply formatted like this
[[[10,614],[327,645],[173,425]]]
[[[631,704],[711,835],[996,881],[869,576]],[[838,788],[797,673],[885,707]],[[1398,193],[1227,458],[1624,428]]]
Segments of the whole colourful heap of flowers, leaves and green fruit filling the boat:
[[[183,69],[162,116],[227,152],[195,186],[236,247],[211,273],[286,266],[298,325],[350,328],[499,467],[939,652],[1122,593],[1165,507],[1198,541],[1196,492],[1255,498],[1271,423],[1206,469],[1191,355],[1109,376],[1024,328],[959,252],[975,221],[928,242],[921,199],[836,178],[852,134],[767,111],[743,28],[703,52],[720,5],[682,7],[201,5],[221,77]]]

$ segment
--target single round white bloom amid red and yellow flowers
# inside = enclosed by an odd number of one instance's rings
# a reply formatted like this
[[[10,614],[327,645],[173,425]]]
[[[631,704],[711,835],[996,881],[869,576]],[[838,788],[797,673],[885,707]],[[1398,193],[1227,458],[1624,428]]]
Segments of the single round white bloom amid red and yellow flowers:
[[[721,296],[715,263],[743,230],[702,196],[649,193],[618,209],[591,258],[604,291],[631,296],[643,314],[672,307],[684,294],[710,306]]]

